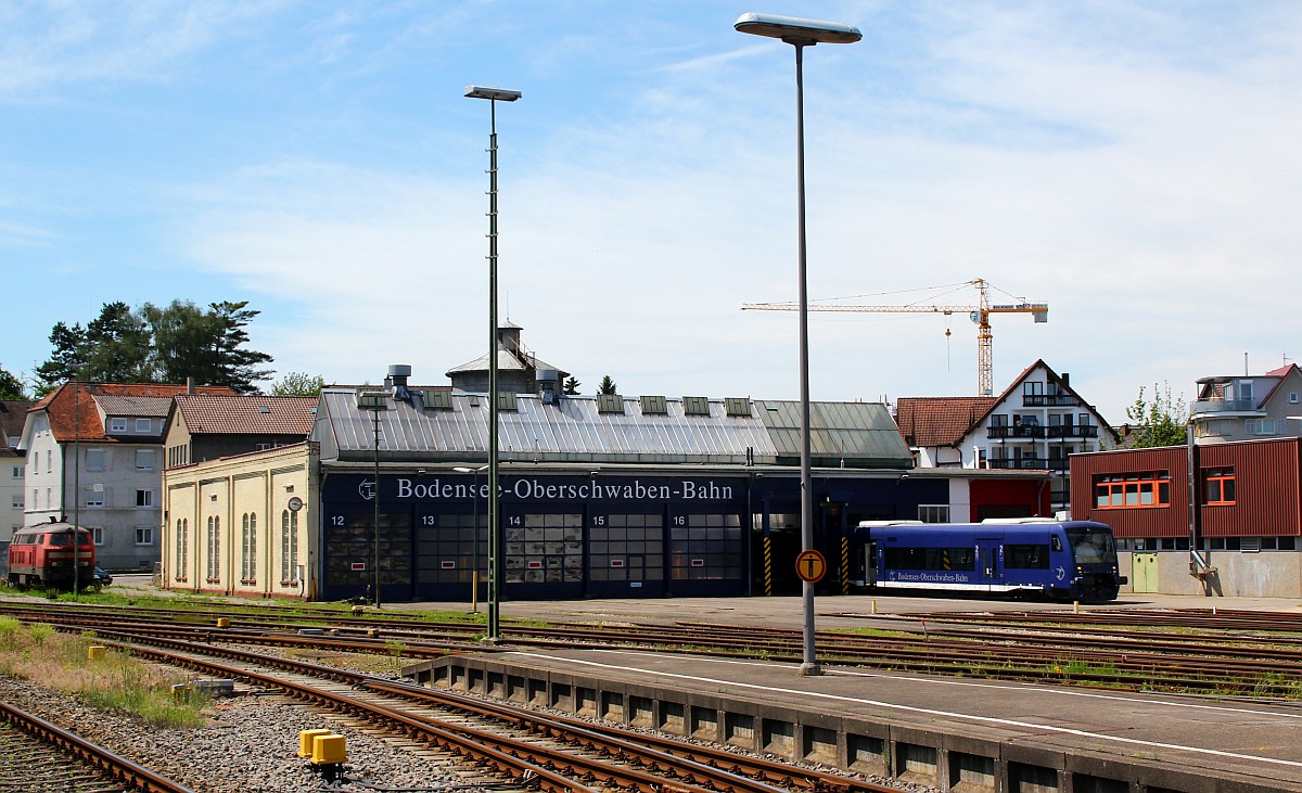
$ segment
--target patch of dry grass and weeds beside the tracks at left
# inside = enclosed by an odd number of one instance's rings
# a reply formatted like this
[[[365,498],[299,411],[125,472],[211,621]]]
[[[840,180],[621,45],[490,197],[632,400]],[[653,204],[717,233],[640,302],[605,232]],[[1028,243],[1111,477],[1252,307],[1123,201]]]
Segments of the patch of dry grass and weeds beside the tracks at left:
[[[155,727],[201,727],[207,697],[199,691],[186,702],[172,697],[180,675],[146,664],[120,651],[89,658],[92,633],[56,633],[44,622],[25,625],[0,617],[0,675],[72,694],[87,704],[134,715]]]

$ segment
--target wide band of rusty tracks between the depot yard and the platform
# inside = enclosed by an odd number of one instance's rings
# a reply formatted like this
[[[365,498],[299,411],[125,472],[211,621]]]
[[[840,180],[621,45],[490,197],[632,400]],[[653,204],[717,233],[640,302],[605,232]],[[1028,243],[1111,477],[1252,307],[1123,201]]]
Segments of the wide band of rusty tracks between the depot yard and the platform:
[[[104,611],[78,607],[0,605],[0,613],[43,619],[68,626],[96,629],[113,619],[122,630],[172,635],[189,641],[262,643],[281,647],[324,648],[344,652],[384,654],[397,642],[411,659],[437,658],[448,652],[492,651],[474,642],[475,625],[431,624],[423,620],[340,620],[323,633],[320,624],[293,620],[232,617],[232,626],[195,624],[171,615]],[[219,612],[220,613],[220,612]],[[1163,613],[1174,629],[1152,625]],[[1302,619],[1293,615],[1251,617],[1238,613],[1199,613],[1187,619],[1170,612],[1130,615],[1121,611],[1072,615],[1068,612],[1022,612],[1008,615],[874,616],[875,624],[900,624],[905,630],[871,635],[820,632],[819,656],[827,663],[866,665],[931,675],[965,675],[997,680],[1068,682],[1126,690],[1165,690],[1221,697],[1297,699],[1302,681]],[[156,619],[141,619],[156,617]],[[161,620],[161,621],[160,621]],[[931,620],[930,626],[927,620]],[[1111,625],[1143,624],[1143,630],[1117,630]],[[1190,628],[1189,621],[1202,624]],[[1207,626],[1208,621],[1212,626]],[[318,626],[312,626],[318,625]],[[921,626],[921,629],[919,629]],[[510,646],[611,647],[635,646],[700,655],[798,660],[802,637],[784,629],[733,628],[716,624],[504,626]]]

